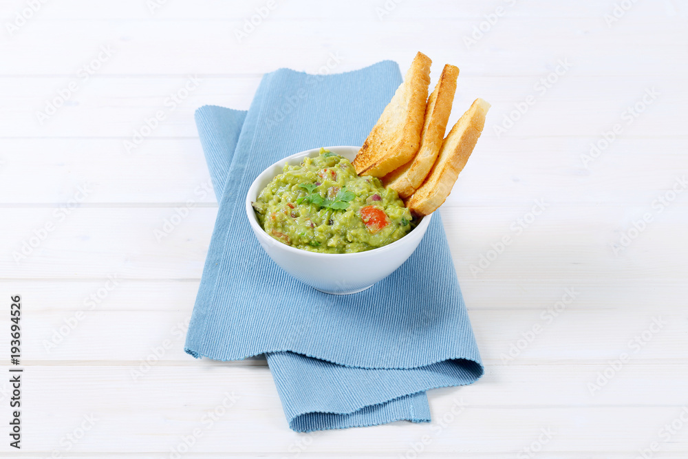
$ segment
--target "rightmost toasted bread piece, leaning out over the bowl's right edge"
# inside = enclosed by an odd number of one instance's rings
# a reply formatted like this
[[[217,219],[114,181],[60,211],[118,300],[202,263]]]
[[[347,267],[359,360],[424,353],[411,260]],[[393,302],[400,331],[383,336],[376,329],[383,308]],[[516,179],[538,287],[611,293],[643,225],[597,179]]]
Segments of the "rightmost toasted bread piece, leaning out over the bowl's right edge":
[[[447,199],[459,173],[469,160],[485,126],[490,104],[477,98],[444,139],[433,169],[406,206],[416,215],[429,215]]]

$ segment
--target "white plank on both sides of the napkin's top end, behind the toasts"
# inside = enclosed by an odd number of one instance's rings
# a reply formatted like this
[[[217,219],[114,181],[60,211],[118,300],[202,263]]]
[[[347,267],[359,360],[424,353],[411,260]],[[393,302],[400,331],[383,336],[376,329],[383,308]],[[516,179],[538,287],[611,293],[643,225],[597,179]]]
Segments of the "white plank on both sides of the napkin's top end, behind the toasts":
[[[541,78],[548,78],[555,70],[557,59],[551,58],[544,63],[546,68],[534,70],[532,75],[508,78],[479,76],[466,63],[449,126],[480,96],[493,105],[484,137],[496,138],[502,148],[509,148],[513,138],[523,136],[584,136],[581,153],[587,153],[589,142],[598,142],[617,124],[616,138],[683,136],[680,114],[688,89],[675,73],[621,80],[585,76],[580,74],[580,64],[570,58],[568,73],[561,77],[555,74],[557,81],[548,89]],[[343,70],[337,67],[333,71]],[[122,154],[133,155],[140,148],[125,147],[125,139],[140,145],[155,137],[197,136],[193,112],[201,105],[248,109],[261,78],[259,74],[198,76],[197,83],[190,83],[196,73],[94,76],[87,81],[78,76],[6,76],[1,78],[4,83],[0,86],[0,137],[117,137],[122,138]],[[186,91],[187,84],[191,91]],[[74,90],[69,90],[69,85],[74,85]],[[178,94],[175,99],[174,94]],[[308,100],[306,96],[303,103]],[[53,111],[51,107],[60,104]],[[144,129],[147,120],[155,118],[159,111],[164,119],[149,122],[150,131]],[[142,140],[136,140],[136,134]],[[616,145],[612,143],[612,147]]]

